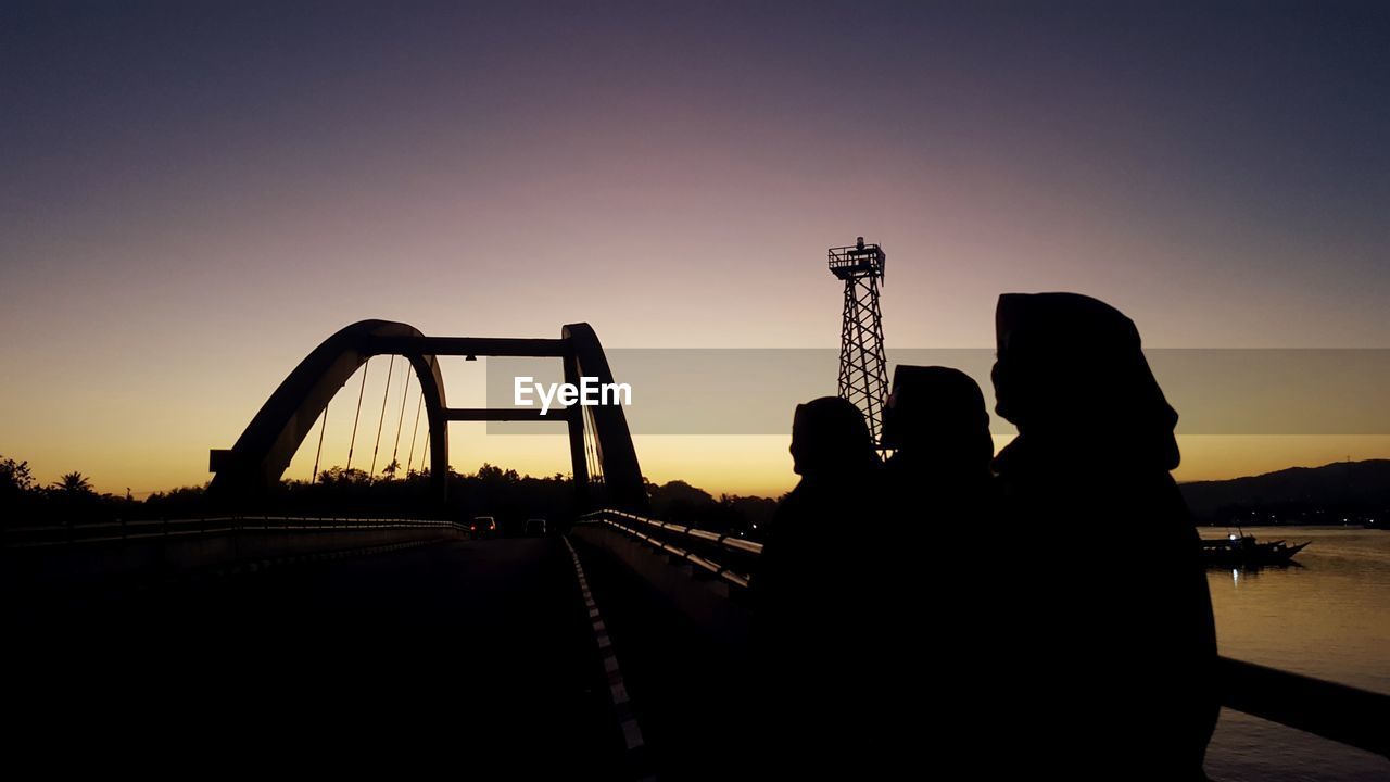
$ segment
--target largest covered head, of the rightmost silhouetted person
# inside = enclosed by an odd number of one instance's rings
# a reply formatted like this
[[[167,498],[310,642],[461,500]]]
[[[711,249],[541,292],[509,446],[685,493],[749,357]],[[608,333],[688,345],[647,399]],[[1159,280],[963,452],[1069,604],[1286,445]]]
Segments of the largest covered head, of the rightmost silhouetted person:
[[[1079,294],[1005,294],[995,333],[994,409],[1020,436],[1177,466],[1177,413],[1144,359],[1138,328],[1118,309]]]

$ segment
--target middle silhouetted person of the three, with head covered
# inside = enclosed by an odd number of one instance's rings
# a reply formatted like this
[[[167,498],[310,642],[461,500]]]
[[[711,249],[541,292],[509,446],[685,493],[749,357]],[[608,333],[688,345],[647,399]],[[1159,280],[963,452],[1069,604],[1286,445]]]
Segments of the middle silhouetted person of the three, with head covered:
[[[980,385],[941,366],[899,366],[884,409],[891,511],[873,601],[878,689],[917,710],[885,725],[894,746],[984,751],[994,736],[998,614],[988,600],[995,536],[994,440]],[[891,705],[884,704],[885,708]],[[912,718],[912,715],[919,715]]]

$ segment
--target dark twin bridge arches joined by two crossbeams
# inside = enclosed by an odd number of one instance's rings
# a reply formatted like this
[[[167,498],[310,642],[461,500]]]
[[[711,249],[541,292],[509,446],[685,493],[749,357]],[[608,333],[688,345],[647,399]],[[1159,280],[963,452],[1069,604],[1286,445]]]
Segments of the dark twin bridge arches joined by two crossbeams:
[[[592,480],[606,487],[605,502],[641,511],[646,506],[642,470],[632,448],[627,416],[617,405],[571,405],[542,416],[531,408],[450,408],[438,356],[557,358],[564,381],[581,377],[613,383],[613,372],[598,335],[588,323],[562,327],[557,340],[495,337],[428,337],[413,326],[389,320],[361,320],[324,340],[279,384],[229,449],[213,449],[208,468],[215,476],[210,491],[220,497],[253,495],[279,483],[291,459],[324,413],[334,395],[373,356],[395,355],[410,362],[428,420],[430,480],[442,502],[449,487],[449,422],[534,420],[564,422],[570,462],[581,502]],[[588,438],[588,444],[585,441]],[[596,465],[589,463],[592,447]]]

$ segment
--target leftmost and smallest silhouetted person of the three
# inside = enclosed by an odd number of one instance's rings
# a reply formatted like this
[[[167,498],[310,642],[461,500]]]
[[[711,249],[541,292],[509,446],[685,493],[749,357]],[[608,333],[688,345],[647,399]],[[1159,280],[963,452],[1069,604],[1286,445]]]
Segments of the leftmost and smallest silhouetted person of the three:
[[[866,561],[881,519],[883,463],[859,409],[838,397],[798,405],[783,498],[752,593],[762,774],[858,763],[877,715],[860,708]]]

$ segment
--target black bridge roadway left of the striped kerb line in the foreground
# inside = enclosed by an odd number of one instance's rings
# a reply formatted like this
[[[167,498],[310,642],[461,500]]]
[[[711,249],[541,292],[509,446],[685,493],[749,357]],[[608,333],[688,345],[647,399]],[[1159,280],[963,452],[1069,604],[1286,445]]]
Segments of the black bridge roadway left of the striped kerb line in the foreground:
[[[25,671],[8,699],[25,715],[13,746],[350,749],[486,756],[518,776],[628,776],[559,538],[436,543],[50,601],[7,625],[19,630],[11,665]]]

